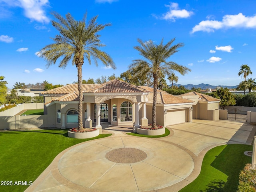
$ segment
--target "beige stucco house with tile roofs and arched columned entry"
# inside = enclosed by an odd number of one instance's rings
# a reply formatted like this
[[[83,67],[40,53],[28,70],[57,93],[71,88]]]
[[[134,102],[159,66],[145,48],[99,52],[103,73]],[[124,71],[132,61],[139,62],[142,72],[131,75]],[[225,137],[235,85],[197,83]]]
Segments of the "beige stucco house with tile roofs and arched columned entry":
[[[127,82],[114,79],[103,84],[83,84],[84,126],[101,127],[102,122],[111,125],[147,125],[152,119],[153,88],[135,86]],[[74,128],[78,125],[78,84],[69,84],[42,92],[44,96],[44,114],[49,124],[57,128]],[[158,90],[156,104],[156,123],[167,126],[184,122],[191,122],[198,113],[218,112],[218,102],[213,97],[208,100],[200,96],[173,96]],[[204,105],[206,104],[206,107]],[[216,107],[217,106],[217,107]],[[195,110],[193,110],[193,108]],[[202,116],[203,119],[204,116]],[[207,119],[207,118],[206,118]],[[212,119],[212,117],[210,118]],[[214,113],[214,120],[217,115]]]

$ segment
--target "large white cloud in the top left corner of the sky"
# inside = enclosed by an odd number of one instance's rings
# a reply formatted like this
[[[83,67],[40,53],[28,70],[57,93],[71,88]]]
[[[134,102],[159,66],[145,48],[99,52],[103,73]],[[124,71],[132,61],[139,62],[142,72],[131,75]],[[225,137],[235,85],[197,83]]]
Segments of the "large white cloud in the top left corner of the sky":
[[[24,9],[24,14],[32,21],[40,23],[49,23],[50,19],[46,16],[44,7],[48,6],[48,0],[1,0],[6,5],[20,7]]]

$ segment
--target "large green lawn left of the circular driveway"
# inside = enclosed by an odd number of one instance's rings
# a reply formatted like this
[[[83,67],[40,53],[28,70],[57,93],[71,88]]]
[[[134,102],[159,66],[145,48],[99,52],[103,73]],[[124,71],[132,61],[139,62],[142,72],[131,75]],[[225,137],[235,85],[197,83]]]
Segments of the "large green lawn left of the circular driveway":
[[[1,192],[22,192],[28,186],[14,186],[15,181],[30,181],[48,167],[66,148],[75,144],[110,136],[100,134],[90,139],[68,137],[68,130],[33,130],[0,132],[0,182],[12,181],[12,186],[0,185]]]

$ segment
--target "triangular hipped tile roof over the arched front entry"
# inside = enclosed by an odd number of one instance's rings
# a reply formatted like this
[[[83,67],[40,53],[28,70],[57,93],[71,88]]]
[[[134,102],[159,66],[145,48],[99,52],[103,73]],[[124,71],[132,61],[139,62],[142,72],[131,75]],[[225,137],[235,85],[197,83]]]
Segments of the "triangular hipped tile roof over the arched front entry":
[[[98,84],[84,92],[90,93],[123,93],[123,92],[147,92],[147,90],[139,86],[129,84],[119,79],[113,79],[108,82]]]

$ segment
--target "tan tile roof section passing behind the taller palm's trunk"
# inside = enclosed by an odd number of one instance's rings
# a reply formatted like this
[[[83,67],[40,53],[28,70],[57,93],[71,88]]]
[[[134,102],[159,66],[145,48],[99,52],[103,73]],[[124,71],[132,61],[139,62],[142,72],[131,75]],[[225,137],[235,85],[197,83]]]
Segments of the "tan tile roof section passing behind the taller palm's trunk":
[[[98,86],[100,84],[82,84],[82,89],[87,90],[90,88],[93,88],[95,86]],[[66,86],[58,87],[55,89],[51,89],[48,91],[42,92],[42,95],[46,94],[68,94],[71,92],[78,92],[78,84],[68,84]]]

